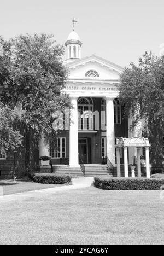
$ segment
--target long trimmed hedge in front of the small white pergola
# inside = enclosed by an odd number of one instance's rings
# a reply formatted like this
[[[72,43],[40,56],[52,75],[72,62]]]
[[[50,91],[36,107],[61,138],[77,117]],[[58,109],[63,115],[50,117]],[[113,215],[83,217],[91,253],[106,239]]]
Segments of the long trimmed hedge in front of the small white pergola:
[[[94,178],[94,186],[106,190],[159,190],[162,185],[164,178]]]

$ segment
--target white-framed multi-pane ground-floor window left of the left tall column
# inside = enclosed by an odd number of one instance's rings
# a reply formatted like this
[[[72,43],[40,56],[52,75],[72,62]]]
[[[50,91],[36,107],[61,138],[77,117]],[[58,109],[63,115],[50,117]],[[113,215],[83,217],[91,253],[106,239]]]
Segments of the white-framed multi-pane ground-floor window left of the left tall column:
[[[57,138],[55,143],[50,138],[50,158],[66,157],[66,138]]]

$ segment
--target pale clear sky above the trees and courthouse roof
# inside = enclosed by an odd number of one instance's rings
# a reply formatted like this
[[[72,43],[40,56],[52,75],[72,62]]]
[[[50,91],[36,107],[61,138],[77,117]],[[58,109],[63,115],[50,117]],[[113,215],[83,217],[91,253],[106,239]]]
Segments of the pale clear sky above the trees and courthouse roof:
[[[164,0],[0,0],[0,35],[52,33],[65,44],[72,31],[81,57],[96,54],[122,67],[164,43]]]

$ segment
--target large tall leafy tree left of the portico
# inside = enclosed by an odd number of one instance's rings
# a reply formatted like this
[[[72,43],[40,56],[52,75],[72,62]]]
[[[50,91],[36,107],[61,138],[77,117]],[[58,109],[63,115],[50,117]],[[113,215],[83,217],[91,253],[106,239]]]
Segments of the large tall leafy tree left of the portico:
[[[10,40],[5,51],[9,58],[6,83],[8,90],[2,100],[14,109],[22,104],[22,122],[25,125],[26,165],[30,162],[30,135],[36,140],[44,133],[49,135],[58,110],[69,106],[69,98],[62,94],[67,77],[63,66],[63,46],[53,36],[34,34]]]

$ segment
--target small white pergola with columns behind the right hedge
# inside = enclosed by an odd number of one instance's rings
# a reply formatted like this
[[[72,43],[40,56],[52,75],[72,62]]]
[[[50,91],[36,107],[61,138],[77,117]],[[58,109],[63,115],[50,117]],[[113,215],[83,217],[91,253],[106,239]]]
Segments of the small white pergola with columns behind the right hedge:
[[[117,159],[117,176],[121,176],[120,168],[120,148],[124,148],[124,172],[125,177],[128,177],[128,158],[127,158],[127,148],[136,147],[137,148],[137,170],[138,177],[141,177],[141,165],[140,165],[140,149],[145,148],[146,152],[146,173],[147,178],[150,178],[150,162],[149,162],[149,148],[150,148],[148,138],[132,137],[132,138],[118,138],[116,139],[116,159]],[[132,172],[132,177],[135,177],[134,170]]]

